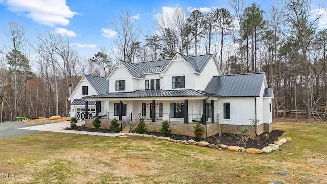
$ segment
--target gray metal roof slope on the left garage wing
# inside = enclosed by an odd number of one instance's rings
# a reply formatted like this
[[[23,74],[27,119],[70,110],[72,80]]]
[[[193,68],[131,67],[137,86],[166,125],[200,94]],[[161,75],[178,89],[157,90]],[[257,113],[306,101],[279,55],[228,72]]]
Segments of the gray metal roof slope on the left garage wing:
[[[97,94],[104,94],[109,92],[109,83],[105,77],[84,75]]]

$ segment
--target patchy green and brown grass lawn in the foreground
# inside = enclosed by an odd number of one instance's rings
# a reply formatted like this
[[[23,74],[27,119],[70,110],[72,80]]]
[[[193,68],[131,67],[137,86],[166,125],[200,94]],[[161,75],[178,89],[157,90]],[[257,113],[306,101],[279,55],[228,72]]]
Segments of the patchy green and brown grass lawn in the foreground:
[[[0,173],[15,176],[0,175],[0,183],[327,183],[327,124],[274,122],[273,129],[292,141],[260,155],[139,137],[1,139]]]

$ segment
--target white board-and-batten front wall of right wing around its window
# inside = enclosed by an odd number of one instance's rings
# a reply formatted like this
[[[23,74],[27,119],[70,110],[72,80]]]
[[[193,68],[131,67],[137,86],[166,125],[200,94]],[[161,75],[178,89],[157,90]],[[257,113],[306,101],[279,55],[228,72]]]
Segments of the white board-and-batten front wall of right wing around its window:
[[[230,119],[224,119],[224,103],[230,103]],[[221,124],[251,125],[255,118],[254,97],[224,97],[218,100],[218,113]]]

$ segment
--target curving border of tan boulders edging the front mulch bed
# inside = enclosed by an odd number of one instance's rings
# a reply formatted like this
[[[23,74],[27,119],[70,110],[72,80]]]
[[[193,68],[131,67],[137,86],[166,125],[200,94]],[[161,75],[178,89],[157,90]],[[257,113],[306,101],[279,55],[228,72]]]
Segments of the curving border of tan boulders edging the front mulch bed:
[[[201,146],[201,147],[208,147],[208,148],[214,148],[214,149],[225,149],[225,150],[229,150],[229,151],[236,151],[236,152],[240,151],[240,152],[254,153],[254,154],[271,153],[274,150],[278,150],[279,146],[283,145],[284,143],[286,143],[288,141],[292,141],[292,139],[290,137],[286,137],[286,138],[278,137],[278,141],[275,141],[273,144],[270,143],[266,147],[264,147],[260,150],[260,149],[256,149],[256,148],[245,149],[244,147],[241,147],[241,146],[227,146],[224,144],[215,145],[215,144],[208,143],[206,141],[196,142],[193,139],[174,140],[174,139],[171,139],[170,137],[148,135],[148,134],[138,134],[138,133],[126,133],[119,137],[128,137],[128,136],[143,136],[143,137],[147,137],[147,138],[153,138],[156,140],[165,140],[165,141],[175,142],[175,143],[184,144],[184,145],[197,145],[197,146]]]

